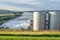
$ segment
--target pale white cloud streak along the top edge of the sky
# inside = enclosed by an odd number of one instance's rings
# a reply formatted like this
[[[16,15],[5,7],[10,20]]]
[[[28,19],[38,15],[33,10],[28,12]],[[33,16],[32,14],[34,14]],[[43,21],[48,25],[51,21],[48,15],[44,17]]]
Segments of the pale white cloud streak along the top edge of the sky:
[[[34,6],[40,6],[43,3],[41,1],[37,0],[1,0],[4,2],[13,2],[13,3],[22,3],[22,4],[29,4],[29,5],[34,5]]]

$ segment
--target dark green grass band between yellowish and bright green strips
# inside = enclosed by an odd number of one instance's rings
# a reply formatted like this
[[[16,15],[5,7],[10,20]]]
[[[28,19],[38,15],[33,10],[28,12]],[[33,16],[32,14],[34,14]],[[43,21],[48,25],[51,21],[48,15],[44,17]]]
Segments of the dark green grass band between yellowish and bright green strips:
[[[0,34],[0,36],[19,36],[19,37],[60,37],[60,34]]]

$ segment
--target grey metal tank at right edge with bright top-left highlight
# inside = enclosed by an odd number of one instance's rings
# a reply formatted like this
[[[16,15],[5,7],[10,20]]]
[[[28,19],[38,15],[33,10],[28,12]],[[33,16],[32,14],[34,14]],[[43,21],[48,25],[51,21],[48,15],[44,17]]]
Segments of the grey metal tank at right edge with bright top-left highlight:
[[[50,13],[50,30],[60,30],[60,11]]]

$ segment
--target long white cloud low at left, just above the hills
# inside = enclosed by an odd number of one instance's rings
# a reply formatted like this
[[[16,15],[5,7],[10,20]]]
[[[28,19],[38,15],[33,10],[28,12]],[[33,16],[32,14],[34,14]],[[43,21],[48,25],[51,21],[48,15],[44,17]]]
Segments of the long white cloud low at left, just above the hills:
[[[7,5],[0,5],[0,9],[6,9],[6,10],[12,10],[12,11],[32,10],[32,9],[29,9],[29,8],[15,7],[15,6],[7,6]]]

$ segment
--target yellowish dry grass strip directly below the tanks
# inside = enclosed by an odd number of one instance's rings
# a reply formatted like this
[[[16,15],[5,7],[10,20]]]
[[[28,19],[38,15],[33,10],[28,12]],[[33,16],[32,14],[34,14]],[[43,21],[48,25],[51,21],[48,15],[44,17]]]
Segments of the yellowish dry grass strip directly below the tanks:
[[[19,30],[0,30],[0,34],[60,34],[60,31],[19,31]]]

